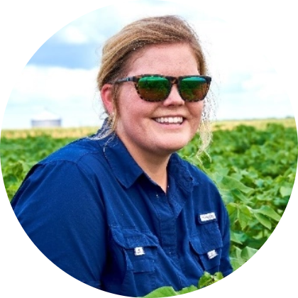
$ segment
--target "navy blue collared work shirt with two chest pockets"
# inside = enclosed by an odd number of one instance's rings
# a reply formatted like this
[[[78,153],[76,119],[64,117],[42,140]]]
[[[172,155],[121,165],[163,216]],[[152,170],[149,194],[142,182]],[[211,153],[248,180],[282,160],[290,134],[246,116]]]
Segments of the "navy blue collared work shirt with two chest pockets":
[[[38,162],[11,202],[33,244],[68,275],[141,297],[231,274],[226,207],[204,172],[170,156],[165,193],[121,140],[82,138]]]

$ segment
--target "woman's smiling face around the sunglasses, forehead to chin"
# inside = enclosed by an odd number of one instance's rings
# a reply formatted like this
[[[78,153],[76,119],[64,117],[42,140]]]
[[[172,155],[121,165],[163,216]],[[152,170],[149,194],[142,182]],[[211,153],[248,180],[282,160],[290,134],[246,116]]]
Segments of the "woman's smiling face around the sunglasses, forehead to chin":
[[[150,45],[131,57],[127,77],[199,75],[197,68],[186,44]],[[116,133],[128,151],[160,156],[170,155],[189,143],[199,128],[204,106],[204,101],[185,102],[176,84],[165,101],[148,102],[140,99],[133,82],[121,83],[117,100]],[[173,120],[179,122],[170,123]]]

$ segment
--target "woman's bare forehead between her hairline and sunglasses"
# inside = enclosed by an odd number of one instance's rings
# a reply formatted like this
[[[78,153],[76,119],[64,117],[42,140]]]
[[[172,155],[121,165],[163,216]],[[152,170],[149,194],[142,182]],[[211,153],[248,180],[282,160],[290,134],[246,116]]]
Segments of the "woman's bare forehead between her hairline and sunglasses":
[[[128,75],[198,75],[197,60],[185,43],[147,45],[132,55]]]

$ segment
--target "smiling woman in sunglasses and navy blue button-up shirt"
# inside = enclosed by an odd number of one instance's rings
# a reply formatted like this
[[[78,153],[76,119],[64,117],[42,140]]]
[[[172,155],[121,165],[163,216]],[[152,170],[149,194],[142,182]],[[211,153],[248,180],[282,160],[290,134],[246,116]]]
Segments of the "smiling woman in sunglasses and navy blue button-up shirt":
[[[108,117],[31,169],[11,203],[23,230],[68,275],[121,296],[231,274],[220,194],[176,153],[211,136],[196,33],[177,16],[135,21],[107,40],[97,79]]]

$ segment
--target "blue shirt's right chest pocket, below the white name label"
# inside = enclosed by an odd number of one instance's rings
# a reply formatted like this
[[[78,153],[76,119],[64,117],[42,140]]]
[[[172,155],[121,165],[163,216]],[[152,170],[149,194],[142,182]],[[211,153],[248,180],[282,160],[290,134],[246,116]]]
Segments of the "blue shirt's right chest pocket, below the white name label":
[[[197,234],[189,237],[189,243],[204,270],[211,274],[219,270],[223,242],[216,219],[199,220]]]

